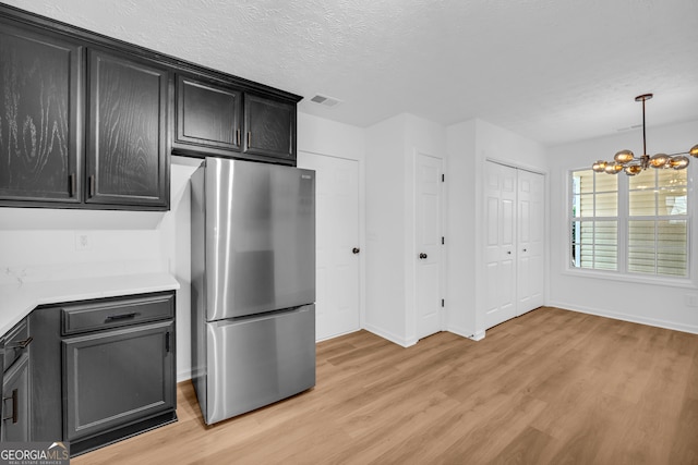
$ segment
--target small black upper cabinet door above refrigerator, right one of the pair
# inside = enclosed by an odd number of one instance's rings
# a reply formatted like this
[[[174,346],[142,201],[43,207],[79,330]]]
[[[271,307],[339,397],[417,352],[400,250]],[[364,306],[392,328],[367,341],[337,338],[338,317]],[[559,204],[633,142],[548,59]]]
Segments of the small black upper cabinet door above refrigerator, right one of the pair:
[[[296,106],[244,96],[244,152],[296,160]]]

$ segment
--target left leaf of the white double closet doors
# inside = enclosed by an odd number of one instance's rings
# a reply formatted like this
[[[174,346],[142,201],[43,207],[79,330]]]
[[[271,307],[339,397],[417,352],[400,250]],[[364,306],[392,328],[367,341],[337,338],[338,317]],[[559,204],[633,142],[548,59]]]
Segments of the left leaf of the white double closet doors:
[[[485,327],[516,316],[517,170],[485,163]]]

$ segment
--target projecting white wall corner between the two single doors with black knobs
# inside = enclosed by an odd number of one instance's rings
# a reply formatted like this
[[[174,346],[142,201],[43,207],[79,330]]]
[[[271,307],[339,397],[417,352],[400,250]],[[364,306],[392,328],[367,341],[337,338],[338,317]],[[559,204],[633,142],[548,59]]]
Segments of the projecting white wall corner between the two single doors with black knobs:
[[[417,342],[417,154],[446,161],[445,129],[399,114],[366,130],[365,329],[397,344]]]

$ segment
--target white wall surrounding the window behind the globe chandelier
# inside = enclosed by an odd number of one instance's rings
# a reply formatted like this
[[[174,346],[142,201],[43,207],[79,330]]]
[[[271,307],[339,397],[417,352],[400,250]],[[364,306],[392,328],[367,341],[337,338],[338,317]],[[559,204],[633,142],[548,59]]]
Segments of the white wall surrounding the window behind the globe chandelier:
[[[698,121],[666,127],[648,127],[648,150],[667,154],[688,150],[698,143]],[[642,152],[642,133],[633,131],[566,144],[549,149],[550,188],[550,285],[549,304],[562,308],[603,315],[628,321],[698,333],[698,307],[689,306],[691,297],[698,304],[698,159],[691,159],[689,176],[694,188],[689,192],[689,208],[694,215],[691,234],[691,281],[685,287],[671,281],[647,282],[603,279],[567,270],[567,173],[571,169],[589,168],[598,159],[612,159],[624,148]],[[625,174],[618,174],[621,176]]]

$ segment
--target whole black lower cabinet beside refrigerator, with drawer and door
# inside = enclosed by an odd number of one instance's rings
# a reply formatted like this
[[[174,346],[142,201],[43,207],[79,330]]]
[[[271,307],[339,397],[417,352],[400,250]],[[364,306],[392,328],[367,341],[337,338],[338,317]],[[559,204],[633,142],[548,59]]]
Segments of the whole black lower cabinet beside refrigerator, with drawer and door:
[[[77,455],[177,420],[173,291],[37,308],[29,328],[33,441]]]

